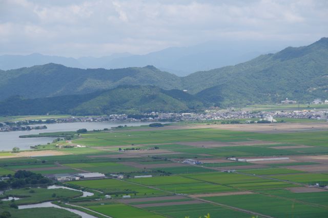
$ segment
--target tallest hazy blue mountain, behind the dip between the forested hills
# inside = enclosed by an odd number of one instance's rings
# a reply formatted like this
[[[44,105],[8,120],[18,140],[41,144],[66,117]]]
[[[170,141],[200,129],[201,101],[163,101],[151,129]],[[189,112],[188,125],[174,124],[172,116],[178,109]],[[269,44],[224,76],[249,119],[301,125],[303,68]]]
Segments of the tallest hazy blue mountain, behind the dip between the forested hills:
[[[260,54],[277,50],[274,45],[247,42],[209,41],[191,47],[172,47],[146,55],[115,58],[105,68],[156,66],[160,70],[186,76],[251,60]]]

